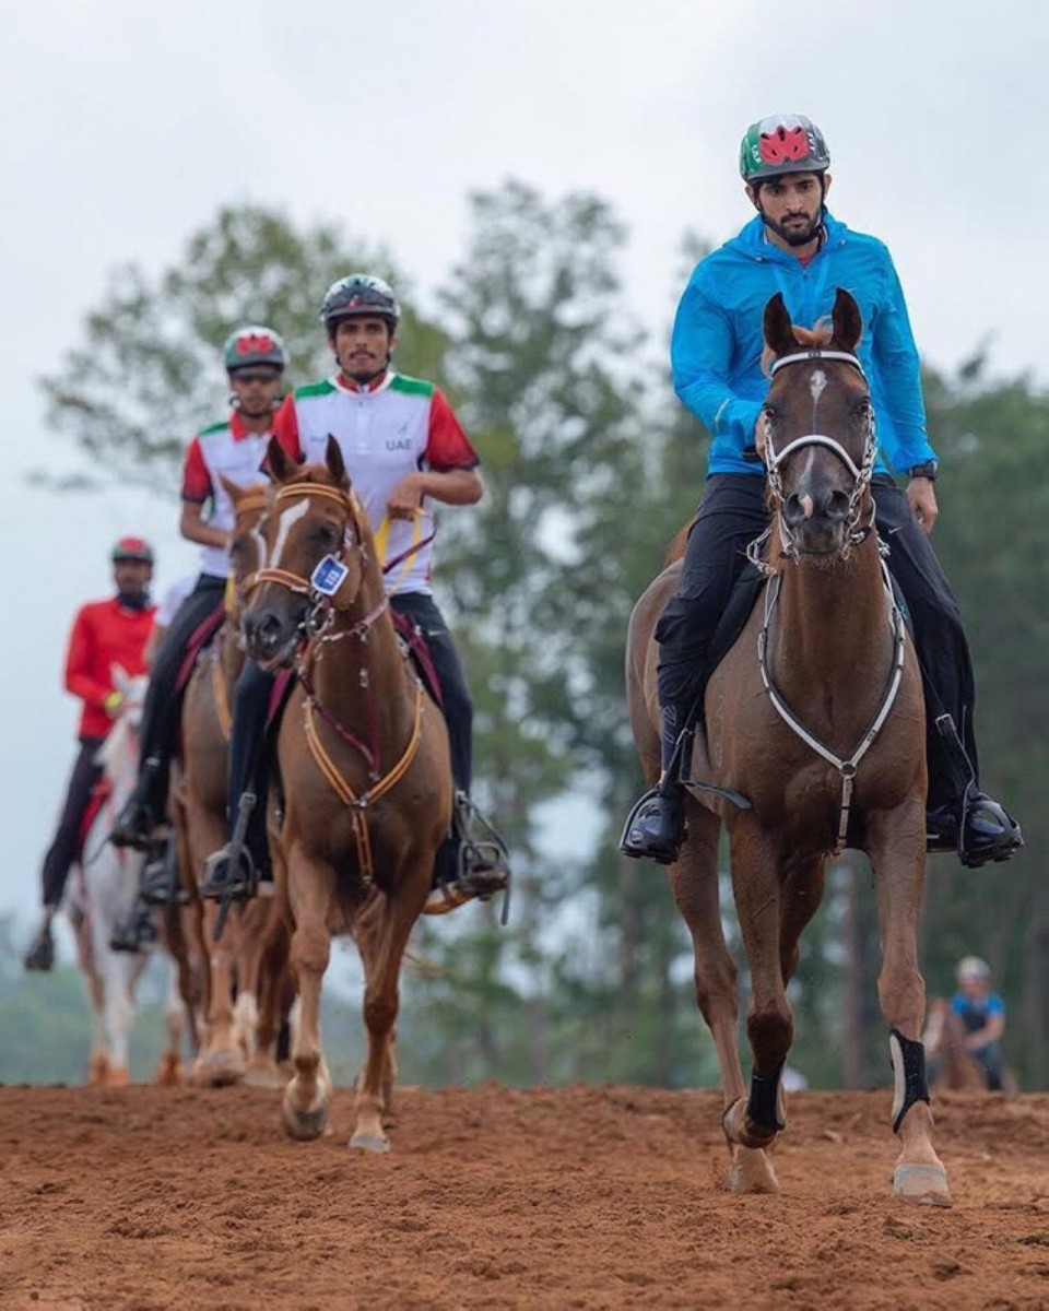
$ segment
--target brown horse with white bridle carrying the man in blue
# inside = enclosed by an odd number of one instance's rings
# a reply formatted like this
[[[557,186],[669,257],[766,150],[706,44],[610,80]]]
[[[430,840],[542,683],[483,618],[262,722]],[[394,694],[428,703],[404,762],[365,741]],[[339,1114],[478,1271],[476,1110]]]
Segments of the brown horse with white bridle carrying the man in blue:
[[[795,329],[783,298],[764,311],[774,361],[763,410],[771,526],[764,606],[711,676],[707,741],[692,780],[730,789],[686,800],[687,838],[670,869],[695,948],[696,999],[717,1049],[722,1125],[736,1192],[778,1192],[764,1148],[784,1127],[780,1076],[793,1037],[787,983],[823,893],[829,857],[848,844],[877,882],[881,1011],[896,1072],[901,1139],[894,1192],[949,1205],[932,1146],[919,1041],[924,982],[917,922],[924,876],[924,707],[917,659],[893,604],[873,531],[871,397],[855,349],[859,308],[838,290],[823,346]],[[827,435],[830,434],[830,435]],[[755,551],[757,555],[757,551]],[[656,621],[678,585],[667,568],[631,619],[627,680],[643,764],[660,771]],[[736,1038],[737,971],[717,897],[717,840],[729,830],[732,884],[751,977],[747,1095]]]

